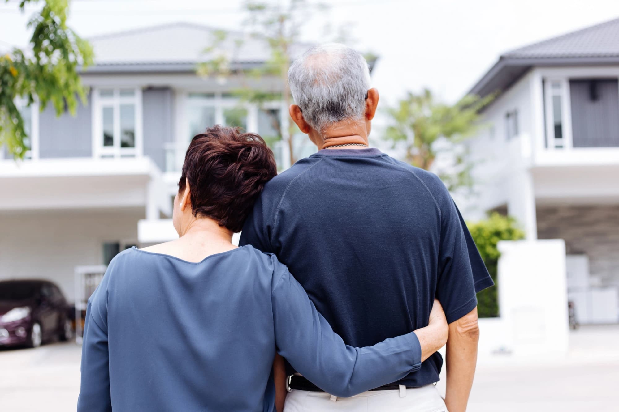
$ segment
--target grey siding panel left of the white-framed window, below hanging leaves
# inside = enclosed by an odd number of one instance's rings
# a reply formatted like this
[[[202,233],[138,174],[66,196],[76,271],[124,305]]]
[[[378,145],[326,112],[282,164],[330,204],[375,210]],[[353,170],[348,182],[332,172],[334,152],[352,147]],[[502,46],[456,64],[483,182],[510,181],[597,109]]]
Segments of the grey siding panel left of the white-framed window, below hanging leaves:
[[[92,156],[92,112],[91,98],[88,105],[77,106],[75,116],[67,111],[59,118],[56,109],[49,104],[39,114],[39,157],[91,157]]]

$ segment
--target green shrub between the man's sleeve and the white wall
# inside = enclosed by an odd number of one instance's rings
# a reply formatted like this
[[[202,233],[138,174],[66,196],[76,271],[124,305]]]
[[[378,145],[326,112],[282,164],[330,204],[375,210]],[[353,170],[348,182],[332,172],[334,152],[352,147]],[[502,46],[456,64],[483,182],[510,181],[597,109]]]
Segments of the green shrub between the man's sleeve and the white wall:
[[[495,286],[477,294],[477,311],[479,317],[497,317],[499,306],[497,299],[498,283],[496,281],[496,267],[500,257],[496,244],[502,240],[524,239],[524,232],[518,227],[516,220],[499,213],[491,215],[476,223],[467,223],[470,234],[473,236],[477,250],[482,255],[483,262],[490,272]]]

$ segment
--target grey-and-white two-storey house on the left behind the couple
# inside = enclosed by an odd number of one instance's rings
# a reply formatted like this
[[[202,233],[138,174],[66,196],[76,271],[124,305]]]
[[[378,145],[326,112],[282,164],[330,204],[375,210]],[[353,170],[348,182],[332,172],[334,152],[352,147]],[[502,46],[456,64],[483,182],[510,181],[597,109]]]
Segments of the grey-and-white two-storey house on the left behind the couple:
[[[243,103],[240,87],[281,93],[277,79],[201,77],[214,30],[171,24],[90,39],[95,65],[82,73],[87,104],[59,118],[18,101],[29,135],[24,161],[0,148],[0,280],[46,278],[75,298],[76,267],[106,265],[134,245],[167,241],[173,197],[191,138],[214,124],[264,137],[288,124],[282,101]],[[298,46],[303,51],[302,46]],[[270,58],[259,39],[230,33],[217,53],[233,72]],[[210,53],[215,53],[212,51]],[[271,139],[280,169],[287,142]],[[313,146],[295,140],[295,155]]]

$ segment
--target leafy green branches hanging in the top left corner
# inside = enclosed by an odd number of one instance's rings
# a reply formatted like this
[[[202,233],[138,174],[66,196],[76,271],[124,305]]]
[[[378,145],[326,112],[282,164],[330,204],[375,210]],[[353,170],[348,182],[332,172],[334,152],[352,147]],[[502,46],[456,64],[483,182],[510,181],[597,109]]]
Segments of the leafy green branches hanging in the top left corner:
[[[20,0],[19,7],[24,12],[26,4],[38,1]],[[15,158],[28,150],[16,98],[24,98],[28,106],[36,98],[41,110],[51,103],[58,116],[66,109],[75,114],[78,99],[86,101],[77,71],[92,64],[92,48],[67,27],[67,8],[68,0],[45,0],[28,22],[30,48],[0,56],[0,145],[6,144]]]

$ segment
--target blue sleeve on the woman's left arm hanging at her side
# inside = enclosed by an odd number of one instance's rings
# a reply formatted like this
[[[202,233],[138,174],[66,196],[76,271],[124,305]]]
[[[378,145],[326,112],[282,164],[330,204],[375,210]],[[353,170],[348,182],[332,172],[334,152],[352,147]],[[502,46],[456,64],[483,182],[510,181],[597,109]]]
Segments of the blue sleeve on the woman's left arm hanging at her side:
[[[82,346],[82,382],[77,400],[77,411],[111,411],[108,335],[106,330],[95,321],[94,318],[98,314],[93,314],[91,303],[88,305],[86,314],[84,345]]]

